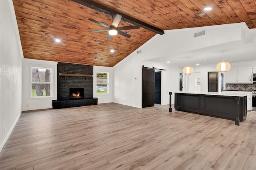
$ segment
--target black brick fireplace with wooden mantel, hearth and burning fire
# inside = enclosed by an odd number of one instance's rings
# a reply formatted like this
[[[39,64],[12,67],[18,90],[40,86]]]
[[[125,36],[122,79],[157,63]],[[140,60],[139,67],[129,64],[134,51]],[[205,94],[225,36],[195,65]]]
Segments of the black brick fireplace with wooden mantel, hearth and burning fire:
[[[52,108],[96,104],[98,104],[98,99],[93,98],[93,66],[58,63],[57,100],[52,101]]]

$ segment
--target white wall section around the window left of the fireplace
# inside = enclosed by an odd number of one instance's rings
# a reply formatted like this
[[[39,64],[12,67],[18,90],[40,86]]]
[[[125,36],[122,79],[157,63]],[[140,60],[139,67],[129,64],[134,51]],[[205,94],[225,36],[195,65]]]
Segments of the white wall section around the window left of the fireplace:
[[[52,97],[31,98],[31,67],[52,68]],[[57,99],[57,62],[33,59],[22,60],[22,111],[52,108]]]

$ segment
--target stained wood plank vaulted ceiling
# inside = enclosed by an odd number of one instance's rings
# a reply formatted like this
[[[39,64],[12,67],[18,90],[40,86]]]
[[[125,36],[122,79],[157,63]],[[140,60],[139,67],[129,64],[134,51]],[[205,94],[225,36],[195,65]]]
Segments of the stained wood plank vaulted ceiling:
[[[256,28],[256,0],[95,0],[162,30],[246,22]],[[13,0],[24,58],[114,66],[156,33],[140,27],[107,39],[89,18],[112,24],[109,15],[71,0]],[[204,11],[211,6],[212,11]],[[120,21],[120,26],[132,25]],[[57,43],[55,38],[60,38]],[[110,52],[114,49],[114,53]]]

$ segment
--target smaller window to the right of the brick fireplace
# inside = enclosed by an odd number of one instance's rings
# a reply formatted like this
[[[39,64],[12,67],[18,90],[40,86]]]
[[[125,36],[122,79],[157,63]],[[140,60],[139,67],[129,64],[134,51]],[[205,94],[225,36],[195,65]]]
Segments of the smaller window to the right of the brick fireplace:
[[[108,72],[97,72],[96,94],[108,94]]]

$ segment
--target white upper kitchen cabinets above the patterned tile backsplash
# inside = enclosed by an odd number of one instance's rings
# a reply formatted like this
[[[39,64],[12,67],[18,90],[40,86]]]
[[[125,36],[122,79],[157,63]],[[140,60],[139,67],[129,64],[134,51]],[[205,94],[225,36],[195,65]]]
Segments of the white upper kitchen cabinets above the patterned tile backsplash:
[[[226,72],[225,83],[253,83],[252,67],[231,68]]]

